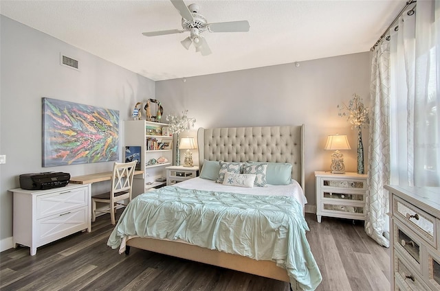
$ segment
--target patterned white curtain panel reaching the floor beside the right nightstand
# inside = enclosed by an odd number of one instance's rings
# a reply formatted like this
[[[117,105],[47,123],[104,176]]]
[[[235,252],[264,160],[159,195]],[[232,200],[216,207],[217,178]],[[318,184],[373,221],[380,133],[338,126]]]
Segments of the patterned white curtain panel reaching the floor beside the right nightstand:
[[[371,116],[369,169],[366,180],[365,231],[378,244],[388,247],[388,194],[390,177],[390,44],[382,42],[373,52],[371,65]]]

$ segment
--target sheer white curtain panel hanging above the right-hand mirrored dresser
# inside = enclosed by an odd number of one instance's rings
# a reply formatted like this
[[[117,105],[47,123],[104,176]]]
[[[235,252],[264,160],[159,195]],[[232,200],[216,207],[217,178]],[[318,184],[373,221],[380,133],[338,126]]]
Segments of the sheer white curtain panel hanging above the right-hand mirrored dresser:
[[[440,186],[440,1],[408,11],[390,40],[390,183]]]

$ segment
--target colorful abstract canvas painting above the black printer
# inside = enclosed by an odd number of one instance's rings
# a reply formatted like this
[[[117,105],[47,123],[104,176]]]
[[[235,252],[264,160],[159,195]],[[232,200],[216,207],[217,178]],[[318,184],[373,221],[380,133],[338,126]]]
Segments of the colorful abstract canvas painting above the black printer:
[[[42,98],[43,167],[118,161],[119,110]]]

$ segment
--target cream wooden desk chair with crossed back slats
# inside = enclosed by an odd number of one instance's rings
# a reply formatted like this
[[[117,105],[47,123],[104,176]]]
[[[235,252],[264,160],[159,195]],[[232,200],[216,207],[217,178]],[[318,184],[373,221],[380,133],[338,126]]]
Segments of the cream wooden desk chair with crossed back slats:
[[[115,163],[113,166],[113,178],[111,179],[111,191],[103,194],[93,196],[92,202],[92,219],[96,220],[96,212],[110,213],[111,224],[115,224],[115,212],[118,205],[126,204],[120,202],[128,199],[127,204],[131,201],[131,191],[133,187],[133,174],[135,172],[135,165],[137,161],[131,163]],[[98,210],[96,209],[96,202],[108,203],[109,208]]]

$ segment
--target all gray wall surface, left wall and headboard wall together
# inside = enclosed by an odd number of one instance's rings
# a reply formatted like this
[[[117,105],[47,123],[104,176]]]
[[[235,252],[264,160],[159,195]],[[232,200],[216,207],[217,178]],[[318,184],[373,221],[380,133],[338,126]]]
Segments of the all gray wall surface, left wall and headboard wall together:
[[[323,150],[327,135],[349,135],[352,150],[344,152],[344,161],[348,172],[356,170],[356,132],[338,117],[336,106],[348,102],[353,93],[368,105],[368,52],[300,62],[300,67],[287,64],[186,82],[153,82],[5,16],[0,21],[0,154],[7,160],[0,165],[0,251],[12,244],[8,189],[19,187],[19,174],[62,171],[78,176],[111,170],[112,163],[41,167],[41,97],[117,109],[121,121],[131,119],[136,102],[155,98],[162,102],[164,115],[188,109],[188,115],[197,119],[195,128],[305,124],[306,196],[311,209],[314,171],[329,170],[331,152]],[[80,71],[59,65],[60,53],[79,59]],[[368,149],[367,130],[363,137]],[[103,187],[94,184],[92,191]]]

